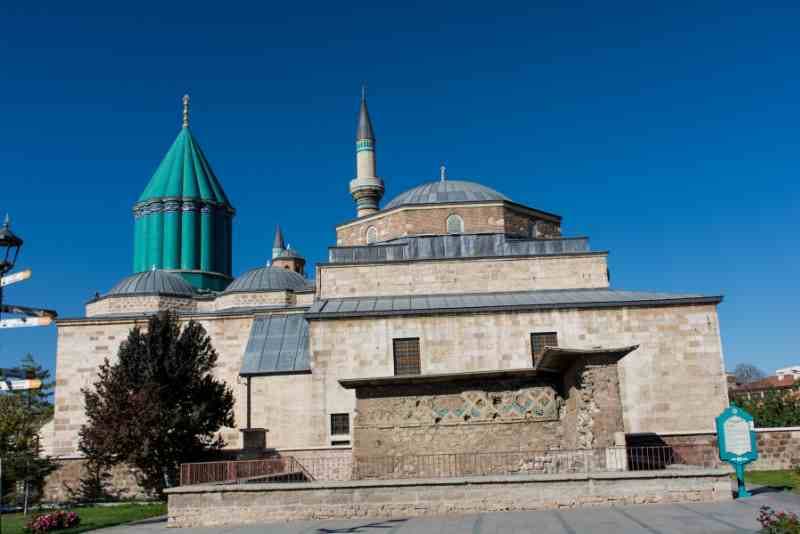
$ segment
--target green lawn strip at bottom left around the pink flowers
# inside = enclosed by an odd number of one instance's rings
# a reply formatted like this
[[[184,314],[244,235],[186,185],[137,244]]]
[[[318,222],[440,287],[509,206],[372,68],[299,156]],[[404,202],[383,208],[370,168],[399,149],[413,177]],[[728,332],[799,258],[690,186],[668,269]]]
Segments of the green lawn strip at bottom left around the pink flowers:
[[[78,534],[87,530],[113,527],[114,525],[157,517],[167,513],[166,503],[85,506],[67,509],[78,513],[81,518],[81,524],[75,528],[54,531],[58,534]],[[47,511],[44,510],[43,512]],[[3,514],[0,516],[0,521],[2,521],[0,532],[2,534],[22,534],[30,517],[30,514],[28,514],[27,518],[22,514]]]

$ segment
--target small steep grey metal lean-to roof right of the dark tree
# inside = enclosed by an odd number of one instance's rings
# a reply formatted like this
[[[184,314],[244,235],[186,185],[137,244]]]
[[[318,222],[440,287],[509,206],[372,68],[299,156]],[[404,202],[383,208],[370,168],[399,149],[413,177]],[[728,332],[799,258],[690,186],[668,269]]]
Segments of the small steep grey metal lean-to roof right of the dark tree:
[[[310,370],[308,322],[302,313],[266,315],[253,320],[239,371],[241,376]]]

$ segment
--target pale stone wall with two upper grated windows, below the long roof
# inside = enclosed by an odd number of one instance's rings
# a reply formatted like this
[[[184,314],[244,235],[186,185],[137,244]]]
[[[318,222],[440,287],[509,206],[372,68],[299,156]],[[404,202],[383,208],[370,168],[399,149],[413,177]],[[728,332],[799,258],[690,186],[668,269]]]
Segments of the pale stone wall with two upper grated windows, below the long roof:
[[[422,372],[446,373],[531,367],[532,332],[564,347],[640,345],[619,363],[626,432],[712,430],[727,406],[714,305],[312,321],[312,402],[354,413],[338,379],[391,376],[393,338],[419,337]]]

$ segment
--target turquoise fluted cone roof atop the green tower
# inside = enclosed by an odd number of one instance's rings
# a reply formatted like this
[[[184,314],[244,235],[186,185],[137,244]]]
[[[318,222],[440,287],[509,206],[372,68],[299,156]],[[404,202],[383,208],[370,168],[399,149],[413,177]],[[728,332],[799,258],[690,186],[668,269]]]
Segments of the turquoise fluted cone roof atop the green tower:
[[[162,198],[205,200],[230,206],[222,185],[189,128],[181,128],[139,202]]]

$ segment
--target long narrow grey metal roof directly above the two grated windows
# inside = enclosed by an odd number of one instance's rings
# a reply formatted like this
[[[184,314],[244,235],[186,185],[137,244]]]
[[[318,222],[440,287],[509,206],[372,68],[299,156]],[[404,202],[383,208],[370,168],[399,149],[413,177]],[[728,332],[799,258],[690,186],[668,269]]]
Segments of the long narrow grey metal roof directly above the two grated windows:
[[[605,308],[669,304],[718,303],[721,296],[621,291],[616,289],[553,289],[506,293],[406,295],[321,299],[306,317],[340,317],[471,313],[481,311]]]

